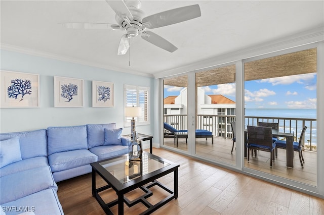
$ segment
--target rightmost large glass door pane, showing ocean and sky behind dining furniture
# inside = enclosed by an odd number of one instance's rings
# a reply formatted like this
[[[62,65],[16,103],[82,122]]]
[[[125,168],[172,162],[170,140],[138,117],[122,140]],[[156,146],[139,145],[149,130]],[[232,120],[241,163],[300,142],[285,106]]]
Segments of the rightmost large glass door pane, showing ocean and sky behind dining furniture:
[[[256,157],[250,153],[245,167],[316,186],[316,58],[317,49],[311,48],[244,64],[246,127],[276,124],[300,142],[304,158],[287,146],[288,139],[273,136],[278,140],[272,168],[269,152],[262,150]]]

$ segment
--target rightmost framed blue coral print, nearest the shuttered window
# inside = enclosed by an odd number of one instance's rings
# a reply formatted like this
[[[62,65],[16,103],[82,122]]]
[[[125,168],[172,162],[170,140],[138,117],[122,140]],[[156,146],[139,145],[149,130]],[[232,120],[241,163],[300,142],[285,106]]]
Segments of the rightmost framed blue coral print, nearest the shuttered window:
[[[92,106],[113,106],[113,83],[92,81]]]

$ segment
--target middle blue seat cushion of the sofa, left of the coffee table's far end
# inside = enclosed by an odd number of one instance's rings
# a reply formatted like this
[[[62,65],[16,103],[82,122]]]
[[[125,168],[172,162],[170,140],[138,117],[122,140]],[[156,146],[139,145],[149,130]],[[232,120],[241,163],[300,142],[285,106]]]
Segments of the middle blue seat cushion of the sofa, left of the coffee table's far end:
[[[97,160],[97,155],[91,153],[88,149],[64,151],[49,155],[52,172],[84,166],[97,162]]]

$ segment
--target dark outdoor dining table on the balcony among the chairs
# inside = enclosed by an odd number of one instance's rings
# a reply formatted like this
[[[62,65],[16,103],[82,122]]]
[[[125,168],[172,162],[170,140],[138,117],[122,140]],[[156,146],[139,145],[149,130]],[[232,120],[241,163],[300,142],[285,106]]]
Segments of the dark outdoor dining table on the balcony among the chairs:
[[[287,168],[294,168],[294,133],[286,133],[286,132],[278,132],[277,130],[272,129],[272,136],[273,137],[285,137],[287,146],[286,146],[286,167]],[[248,149],[247,149],[247,142],[248,142],[248,131],[245,130],[244,132],[244,157],[247,157]]]

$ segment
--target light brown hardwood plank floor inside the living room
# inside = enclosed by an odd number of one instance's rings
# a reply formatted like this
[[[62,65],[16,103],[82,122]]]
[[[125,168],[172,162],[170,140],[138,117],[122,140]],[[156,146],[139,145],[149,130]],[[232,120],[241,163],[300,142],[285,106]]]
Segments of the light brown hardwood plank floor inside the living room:
[[[215,143],[214,143],[215,144]],[[243,174],[226,170],[199,160],[153,148],[153,153],[171,160],[179,167],[179,197],[153,214],[324,214],[324,199],[280,187]],[[173,173],[158,180],[173,189]],[[58,196],[65,214],[104,214],[91,192],[91,174],[65,180],[58,184]],[[97,186],[105,182],[97,177]],[[167,194],[157,186],[151,188],[151,203]],[[133,199],[140,189],[128,193]],[[116,198],[112,190],[102,192],[107,201]],[[111,208],[117,214],[117,207]],[[125,214],[139,214],[142,204],[129,208]]]

